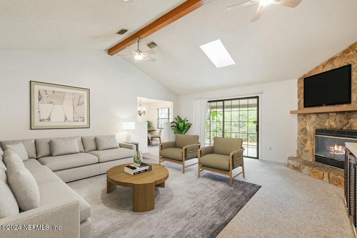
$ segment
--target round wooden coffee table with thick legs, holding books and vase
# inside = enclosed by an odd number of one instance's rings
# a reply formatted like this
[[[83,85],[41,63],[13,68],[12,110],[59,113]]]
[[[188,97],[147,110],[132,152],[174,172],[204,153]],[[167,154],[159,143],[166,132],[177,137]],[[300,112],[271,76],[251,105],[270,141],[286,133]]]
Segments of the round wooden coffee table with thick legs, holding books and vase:
[[[133,212],[147,212],[155,209],[155,185],[165,187],[169,171],[162,165],[151,164],[152,170],[131,175],[124,172],[124,166],[118,165],[107,170],[107,193],[116,186],[133,188]]]

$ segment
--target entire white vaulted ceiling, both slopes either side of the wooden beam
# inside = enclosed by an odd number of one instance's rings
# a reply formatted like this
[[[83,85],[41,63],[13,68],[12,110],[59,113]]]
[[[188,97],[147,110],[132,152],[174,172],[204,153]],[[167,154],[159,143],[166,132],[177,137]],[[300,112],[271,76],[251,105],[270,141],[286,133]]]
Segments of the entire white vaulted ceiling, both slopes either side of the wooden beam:
[[[0,2],[0,49],[107,50],[185,0]],[[177,94],[300,77],[357,41],[357,1],[302,0],[292,9],[211,0],[143,39],[158,46],[155,63],[134,65]],[[115,32],[129,29],[123,36]],[[216,68],[200,46],[220,39],[236,64]],[[133,46],[135,47],[135,46]],[[123,50],[120,54],[127,54]],[[108,56],[118,57],[118,56]]]

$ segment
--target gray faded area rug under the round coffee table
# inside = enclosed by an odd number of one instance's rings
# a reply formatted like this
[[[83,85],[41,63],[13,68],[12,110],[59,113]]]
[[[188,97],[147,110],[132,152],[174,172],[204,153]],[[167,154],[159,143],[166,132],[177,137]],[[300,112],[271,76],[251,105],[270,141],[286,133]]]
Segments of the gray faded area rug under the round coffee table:
[[[229,187],[228,177],[205,171],[198,179],[197,165],[186,168],[185,174],[180,165],[162,165],[169,178],[165,188],[156,186],[155,209],[149,212],[132,211],[132,188],[118,186],[107,194],[105,174],[68,183],[91,205],[94,238],[216,237],[261,187],[239,176]]]

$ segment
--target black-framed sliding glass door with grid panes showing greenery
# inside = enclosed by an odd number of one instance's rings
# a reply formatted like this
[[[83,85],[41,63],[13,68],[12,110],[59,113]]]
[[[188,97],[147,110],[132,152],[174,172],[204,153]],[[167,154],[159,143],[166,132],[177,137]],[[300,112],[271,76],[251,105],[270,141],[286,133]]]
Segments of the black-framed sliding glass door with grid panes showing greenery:
[[[208,101],[206,145],[215,136],[242,138],[244,156],[258,159],[258,97]]]

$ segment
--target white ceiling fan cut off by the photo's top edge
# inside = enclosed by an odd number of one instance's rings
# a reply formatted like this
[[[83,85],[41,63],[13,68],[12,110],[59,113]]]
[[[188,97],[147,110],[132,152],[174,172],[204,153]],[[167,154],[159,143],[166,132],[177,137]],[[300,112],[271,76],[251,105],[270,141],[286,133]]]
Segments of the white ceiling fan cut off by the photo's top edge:
[[[240,4],[227,7],[227,10],[229,11],[259,2],[258,9],[251,20],[251,22],[253,22],[259,19],[259,17],[262,15],[264,8],[271,3],[286,6],[286,7],[296,7],[297,5],[300,4],[301,1],[302,0],[251,0],[251,1],[243,2]]]

